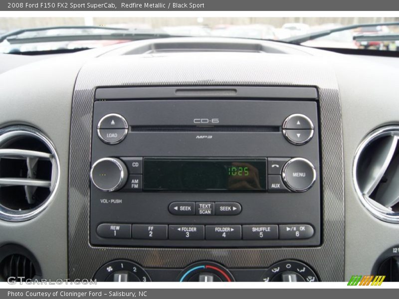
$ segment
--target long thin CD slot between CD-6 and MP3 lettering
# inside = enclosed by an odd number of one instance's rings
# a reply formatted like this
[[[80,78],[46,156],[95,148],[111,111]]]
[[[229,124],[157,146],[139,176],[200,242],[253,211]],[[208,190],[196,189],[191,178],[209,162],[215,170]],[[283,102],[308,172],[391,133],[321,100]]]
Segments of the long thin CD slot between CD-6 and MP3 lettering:
[[[277,126],[131,126],[130,132],[280,132]]]

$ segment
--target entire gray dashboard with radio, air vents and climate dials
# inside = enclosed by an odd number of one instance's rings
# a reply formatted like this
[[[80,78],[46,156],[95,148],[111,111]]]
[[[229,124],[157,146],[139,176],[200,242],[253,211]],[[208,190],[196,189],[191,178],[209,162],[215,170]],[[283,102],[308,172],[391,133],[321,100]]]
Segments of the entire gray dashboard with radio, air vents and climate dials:
[[[0,56],[1,273],[395,281],[394,59],[183,37]]]

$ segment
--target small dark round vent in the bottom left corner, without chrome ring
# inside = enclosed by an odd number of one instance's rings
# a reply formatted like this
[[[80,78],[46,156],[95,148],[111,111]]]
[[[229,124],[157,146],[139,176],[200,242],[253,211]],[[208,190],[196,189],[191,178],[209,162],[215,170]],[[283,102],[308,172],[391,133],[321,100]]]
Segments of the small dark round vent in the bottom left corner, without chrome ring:
[[[0,247],[0,281],[22,281],[40,279],[41,270],[33,254],[15,244]]]

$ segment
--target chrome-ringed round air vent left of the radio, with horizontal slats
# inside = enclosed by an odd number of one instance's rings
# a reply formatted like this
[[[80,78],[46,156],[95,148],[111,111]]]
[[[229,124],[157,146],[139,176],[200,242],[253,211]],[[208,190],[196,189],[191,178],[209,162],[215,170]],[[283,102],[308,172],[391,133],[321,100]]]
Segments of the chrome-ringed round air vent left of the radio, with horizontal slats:
[[[50,203],[59,161],[48,138],[30,127],[0,130],[0,219],[24,221]]]

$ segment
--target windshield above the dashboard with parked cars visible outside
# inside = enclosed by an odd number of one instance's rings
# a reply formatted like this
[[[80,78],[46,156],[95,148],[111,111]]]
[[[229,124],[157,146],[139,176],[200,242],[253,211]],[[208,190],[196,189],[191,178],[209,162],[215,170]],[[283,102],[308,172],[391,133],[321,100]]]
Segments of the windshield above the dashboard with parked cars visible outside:
[[[399,17],[0,17],[0,53],[75,51],[170,36],[238,37],[278,40],[318,48],[398,51],[399,25],[380,25],[382,22],[398,21]],[[295,41],[299,36],[363,23],[369,26]]]

